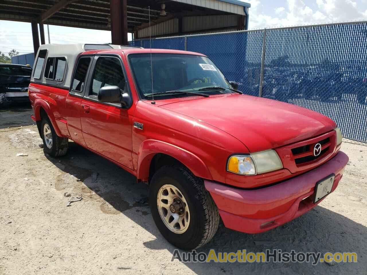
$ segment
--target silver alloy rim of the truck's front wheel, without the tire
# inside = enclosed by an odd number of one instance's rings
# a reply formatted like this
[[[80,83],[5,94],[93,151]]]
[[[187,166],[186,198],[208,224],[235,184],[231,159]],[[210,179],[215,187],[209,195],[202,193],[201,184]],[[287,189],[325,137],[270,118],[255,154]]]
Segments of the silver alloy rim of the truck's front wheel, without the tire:
[[[157,194],[157,206],[159,215],[169,230],[182,234],[189,228],[189,206],[177,187],[172,184],[163,185]]]

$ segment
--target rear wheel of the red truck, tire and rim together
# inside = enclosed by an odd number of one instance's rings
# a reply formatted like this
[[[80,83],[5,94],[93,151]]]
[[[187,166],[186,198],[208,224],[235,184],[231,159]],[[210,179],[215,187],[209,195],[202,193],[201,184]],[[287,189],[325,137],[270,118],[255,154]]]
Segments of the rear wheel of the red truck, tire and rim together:
[[[43,140],[43,151],[52,157],[60,157],[66,154],[69,147],[69,140],[66,137],[59,137],[48,117],[44,117],[41,122],[41,137]]]

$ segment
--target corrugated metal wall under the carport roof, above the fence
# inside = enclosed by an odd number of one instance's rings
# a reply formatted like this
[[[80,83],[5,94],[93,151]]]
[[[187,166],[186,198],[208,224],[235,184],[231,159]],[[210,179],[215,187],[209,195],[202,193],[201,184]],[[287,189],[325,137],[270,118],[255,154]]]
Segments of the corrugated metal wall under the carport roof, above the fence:
[[[201,30],[221,29],[226,27],[237,27],[236,14],[229,15],[206,15],[206,16],[189,16],[182,18],[182,32],[199,32]],[[178,19],[171,19],[166,22],[152,26],[152,36],[164,36],[167,34],[177,34]],[[138,30],[136,38],[149,37],[149,27]]]

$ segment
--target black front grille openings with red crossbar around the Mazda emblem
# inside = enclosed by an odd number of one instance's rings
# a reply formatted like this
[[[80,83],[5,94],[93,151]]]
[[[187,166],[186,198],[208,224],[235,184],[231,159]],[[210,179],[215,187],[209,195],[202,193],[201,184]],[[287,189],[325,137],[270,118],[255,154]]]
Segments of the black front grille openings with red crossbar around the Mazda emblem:
[[[313,154],[313,149],[317,143],[321,144],[321,153],[317,156]],[[316,143],[307,144],[304,146],[292,148],[292,154],[294,157],[294,162],[297,166],[307,165],[313,161],[316,161],[323,157],[327,153],[327,151],[330,149],[331,142],[330,137],[327,137],[326,139],[319,140]]]

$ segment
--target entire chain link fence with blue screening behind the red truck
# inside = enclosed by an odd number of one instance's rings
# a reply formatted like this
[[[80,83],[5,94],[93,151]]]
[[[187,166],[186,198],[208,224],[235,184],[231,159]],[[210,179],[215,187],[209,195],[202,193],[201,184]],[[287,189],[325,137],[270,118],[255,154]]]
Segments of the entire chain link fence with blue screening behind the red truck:
[[[201,52],[246,94],[327,115],[367,143],[367,22],[153,38],[152,48]],[[150,48],[149,39],[129,45]]]

